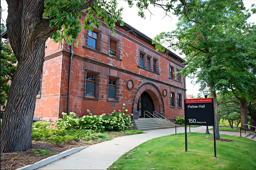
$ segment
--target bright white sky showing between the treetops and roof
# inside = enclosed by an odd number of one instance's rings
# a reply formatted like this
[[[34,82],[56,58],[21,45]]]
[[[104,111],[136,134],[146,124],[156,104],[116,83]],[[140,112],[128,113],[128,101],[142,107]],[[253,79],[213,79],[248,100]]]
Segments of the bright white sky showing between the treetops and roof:
[[[127,5],[127,2],[124,2],[123,0],[117,0],[119,3],[119,6],[122,6],[123,12],[122,17],[123,21],[133,28],[137,29],[144,35],[147,35],[149,38],[154,38],[156,35],[163,31],[172,31],[176,29],[176,23],[178,22],[178,18],[174,15],[170,15],[170,17],[165,16],[165,12],[160,8],[154,8],[153,6],[149,6],[149,11],[145,11],[146,19],[142,19],[138,16],[138,9],[136,5],[133,5],[132,8],[129,8]],[[246,9],[250,8],[251,4],[256,4],[256,0],[245,0],[244,1]],[[2,9],[6,9],[5,11],[2,11],[1,18],[6,21],[7,18],[7,3],[5,0],[1,0],[1,7]],[[1,23],[3,21],[1,20]],[[248,22],[256,22],[256,14],[252,15]],[[175,54],[178,54],[176,51],[172,51]],[[180,57],[184,57],[183,55],[179,55]],[[199,91],[199,84],[191,83],[191,79],[186,77],[186,93],[187,94],[193,94],[194,96],[197,96],[198,93],[202,94],[201,91]]]

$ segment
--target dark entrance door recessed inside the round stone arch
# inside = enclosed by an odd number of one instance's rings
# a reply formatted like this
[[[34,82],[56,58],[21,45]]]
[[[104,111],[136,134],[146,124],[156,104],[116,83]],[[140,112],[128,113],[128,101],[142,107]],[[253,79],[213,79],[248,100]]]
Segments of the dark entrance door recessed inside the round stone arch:
[[[138,108],[137,111],[139,112],[139,117],[144,118],[144,111],[147,110],[149,113],[153,114],[154,111],[154,102],[146,91],[144,91],[141,96],[139,97],[138,102]],[[150,117],[153,117],[152,115],[145,112],[145,114],[149,115]],[[148,116],[145,115],[145,118],[148,118]]]

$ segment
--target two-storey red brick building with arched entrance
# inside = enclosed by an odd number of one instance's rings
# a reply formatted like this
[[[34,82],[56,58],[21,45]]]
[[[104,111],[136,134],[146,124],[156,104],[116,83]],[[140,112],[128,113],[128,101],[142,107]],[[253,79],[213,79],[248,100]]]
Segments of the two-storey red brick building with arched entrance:
[[[48,38],[34,119],[53,121],[62,112],[83,116],[87,109],[124,111],[123,103],[134,119],[144,117],[144,110],[170,119],[184,115],[185,80],[172,74],[184,60],[171,51],[157,52],[152,39],[127,24],[115,31],[104,23],[92,32],[82,28],[78,47],[64,42],[60,48]]]

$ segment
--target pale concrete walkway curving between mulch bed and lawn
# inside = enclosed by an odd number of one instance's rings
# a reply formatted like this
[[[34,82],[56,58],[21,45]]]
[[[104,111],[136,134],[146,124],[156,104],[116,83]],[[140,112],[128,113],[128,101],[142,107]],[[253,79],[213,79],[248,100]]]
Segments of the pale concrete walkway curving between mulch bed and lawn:
[[[187,127],[189,132],[189,128]],[[206,126],[191,127],[191,132],[206,130]],[[114,138],[111,141],[91,145],[72,155],[58,159],[39,169],[107,169],[119,157],[138,145],[161,136],[175,134],[175,128],[147,130],[146,133]],[[184,127],[177,128],[177,133],[184,133]]]

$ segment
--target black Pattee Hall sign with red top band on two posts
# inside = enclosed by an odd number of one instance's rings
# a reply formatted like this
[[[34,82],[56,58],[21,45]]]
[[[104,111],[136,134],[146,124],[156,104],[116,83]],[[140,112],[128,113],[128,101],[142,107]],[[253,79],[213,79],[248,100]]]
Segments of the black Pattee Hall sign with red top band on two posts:
[[[214,156],[216,154],[213,98],[185,99],[185,151],[187,152],[187,125],[213,126]]]

